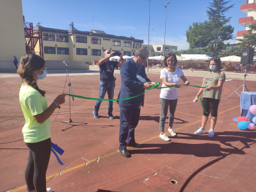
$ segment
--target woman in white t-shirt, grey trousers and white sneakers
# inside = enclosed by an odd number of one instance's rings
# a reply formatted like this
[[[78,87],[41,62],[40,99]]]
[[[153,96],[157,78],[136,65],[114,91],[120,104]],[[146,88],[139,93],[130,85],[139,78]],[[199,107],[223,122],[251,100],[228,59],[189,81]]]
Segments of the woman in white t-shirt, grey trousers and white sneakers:
[[[174,113],[177,106],[179,93],[178,88],[180,88],[180,79],[184,81],[184,84],[189,85],[188,79],[184,76],[184,73],[177,65],[177,58],[173,52],[166,54],[164,58],[164,68],[161,70],[160,79],[162,79],[162,87],[173,86],[170,88],[162,88],[160,93],[160,103],[161,103],[161,115],[159,120],[160,135],[159,137],[164,141],[171,141],[168,136],[164,133],[164,124],[167,116],[167,111],[169,108],[169,128],[168,131],[172,136],[177,136],[173,130],[173,120]]]

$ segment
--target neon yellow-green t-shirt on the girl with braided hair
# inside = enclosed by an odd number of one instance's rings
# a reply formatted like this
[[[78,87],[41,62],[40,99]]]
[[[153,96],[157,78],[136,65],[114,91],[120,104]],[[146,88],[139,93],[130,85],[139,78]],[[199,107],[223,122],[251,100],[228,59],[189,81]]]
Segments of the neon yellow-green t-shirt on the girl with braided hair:
[[[43,113],[47,109],[47,100],[30,85],[21,86],[19,100],[26,124],[22,129],[26,143],[37,143],[51,138],[51,118],[40,124],[33,115]]]

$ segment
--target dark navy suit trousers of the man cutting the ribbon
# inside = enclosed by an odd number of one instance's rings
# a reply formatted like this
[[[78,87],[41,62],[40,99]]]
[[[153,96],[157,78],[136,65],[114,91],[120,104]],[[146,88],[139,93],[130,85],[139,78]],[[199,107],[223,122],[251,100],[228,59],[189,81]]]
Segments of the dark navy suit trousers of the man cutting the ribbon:
[[[134,131],[140,120],[140,108],[120,107],[120,129],[119,143],[120,148],[126,148],[127,143],[135,143]]]

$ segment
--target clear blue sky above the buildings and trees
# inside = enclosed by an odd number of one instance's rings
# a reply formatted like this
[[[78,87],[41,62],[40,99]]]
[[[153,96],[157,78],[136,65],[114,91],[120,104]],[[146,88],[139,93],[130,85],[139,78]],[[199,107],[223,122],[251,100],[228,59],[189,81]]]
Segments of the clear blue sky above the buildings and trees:
[[[188,49],[186,31],[193,22],[207,20],[206,10],[212,0],[169,0],[166,19],[166,45],[178,50]],[[165,0],[150,0],[150,42],[164,44]],[[246,0],[231,0],[235,4],[225,15],[236,32],[245,30],[238,24],[246,13],[240,11]],[[36,7],[37,6],[37,7]],[[26,22],[37,22],[46,28],[69,29],[70,22],[80,31],[98,29],[118,36],[133,36],[148,44],[149,0],[22,0]],[[232,40],[230,43],[234,43]]]

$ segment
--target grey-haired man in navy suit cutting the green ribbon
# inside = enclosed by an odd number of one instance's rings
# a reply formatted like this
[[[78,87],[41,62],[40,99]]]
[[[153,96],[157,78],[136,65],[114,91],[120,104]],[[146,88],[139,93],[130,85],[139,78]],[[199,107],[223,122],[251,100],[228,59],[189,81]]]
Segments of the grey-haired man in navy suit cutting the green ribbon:
[[[144,89],[150,89],[152,83],[141,82],[140,77],[137,75],[138,66],[143,65],[147,60],[148,51],[140,48],[136,50],[134,58],[126,61],[121,69],[121,88],[118,94],[118,99],[127,97],[134,97],[144,92]],[[120,130],[119,130],[119,143],[120,153],[124,157],[131,157],[127,151],[127,146],[141,148],[139,143],[135,142],[134,129],[138,125],[140,119],[140,108],[143,106],[143,95],[128,100],[120,100]]]

